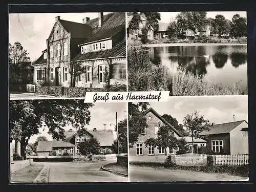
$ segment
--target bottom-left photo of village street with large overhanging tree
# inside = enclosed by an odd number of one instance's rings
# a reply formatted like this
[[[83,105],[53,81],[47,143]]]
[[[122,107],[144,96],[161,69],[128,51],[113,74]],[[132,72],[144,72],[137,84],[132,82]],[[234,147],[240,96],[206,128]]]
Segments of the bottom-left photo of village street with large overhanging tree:
[[[10,182],[127,182],[127,103],[10,100]]]

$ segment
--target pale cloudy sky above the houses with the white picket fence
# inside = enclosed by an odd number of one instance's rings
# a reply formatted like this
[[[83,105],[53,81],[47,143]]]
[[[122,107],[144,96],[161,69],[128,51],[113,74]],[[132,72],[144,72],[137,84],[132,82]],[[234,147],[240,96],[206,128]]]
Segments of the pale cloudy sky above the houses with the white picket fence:
[[[160,115],[168,114],[182,123],[183,118],[194,110],[211,123],[227,123],[246,120],[248,122],[248,97],[243,96],[202,96],[170,97],[167,102],[151,102],[151,107]]]

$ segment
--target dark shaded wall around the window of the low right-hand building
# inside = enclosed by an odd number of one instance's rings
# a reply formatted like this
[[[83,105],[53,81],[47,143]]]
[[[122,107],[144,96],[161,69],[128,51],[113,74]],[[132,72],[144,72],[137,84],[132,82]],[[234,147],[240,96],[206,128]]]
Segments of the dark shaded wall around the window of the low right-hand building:
[[[209,146],[209,149],[212,148],[212,145],[211,145],[212,140],[222,140],[224,153],[227,154],[227,155],[230,155],[230,136],[229,136],[229,133],[209,135],[208,143],[207,143],[208,146]]]

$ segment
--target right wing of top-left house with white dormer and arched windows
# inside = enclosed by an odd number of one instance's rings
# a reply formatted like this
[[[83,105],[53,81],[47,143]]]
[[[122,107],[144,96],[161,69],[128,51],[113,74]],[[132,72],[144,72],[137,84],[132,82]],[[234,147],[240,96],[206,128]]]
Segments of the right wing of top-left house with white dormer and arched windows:
[[[78,45],[73,62],[83,66],[77,87],[102,88],[106,83],[126,83],[125,13],[99,14],[88,22],[93,34]]]

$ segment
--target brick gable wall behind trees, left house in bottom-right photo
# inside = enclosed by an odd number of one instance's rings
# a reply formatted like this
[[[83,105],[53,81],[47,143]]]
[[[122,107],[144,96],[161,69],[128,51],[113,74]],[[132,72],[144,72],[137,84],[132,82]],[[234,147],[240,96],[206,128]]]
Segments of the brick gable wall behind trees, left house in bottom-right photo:
[[[151,120],[149,119],[151,117]],[[165,154],[159,154],[158,148],[155,148],[155,154],[148,155],[148,147],[145,147],[144,141],[148,138],[156,138],[157,135],[155,134],[155,126],[162,126],[164,123],[158,119],[152,112],[149,112],[146,114],[146,122],[148,127],[146,128],[146,134],[140,135],[138,138],[137,143],[142,143],[142,150],[143,155],[142,156],[156,156],[156,155],[165,155]],[[175,136],[178,138],[178,136],[175,134]],[[169,149],[166,148],[167,154],[169,152]],[[136,143],[132,148],[129,149],[130,156],[137,156],[136,155]]]

